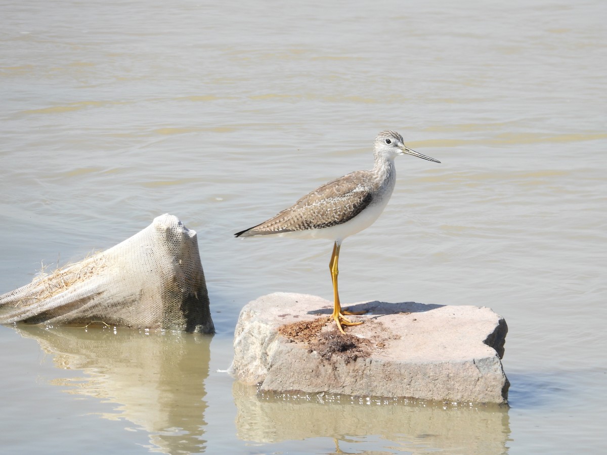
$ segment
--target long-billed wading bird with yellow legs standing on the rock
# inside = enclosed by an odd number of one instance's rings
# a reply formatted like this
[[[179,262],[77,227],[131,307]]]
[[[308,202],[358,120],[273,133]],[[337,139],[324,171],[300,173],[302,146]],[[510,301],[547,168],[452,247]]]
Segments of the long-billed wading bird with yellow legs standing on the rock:
[[[384,211],[396,182],[394,158],[405,154],[440,163],[434,158],[405,147],[399,133],[390,130],[382,131],[373,143],[375,160],[373,169],[357,170],[325,183],[269,220],[234,234],[236,237],[285,235],[333,240],[333,254],[329,262],[334,297],[331,317],[342,333],[344,333],[342,325],[358,325],[362,322],[353,322],[345,317],[344,314],[357,313],[342,311],[339,303],[337,292],[339,248],[344,238],[371,226]]]

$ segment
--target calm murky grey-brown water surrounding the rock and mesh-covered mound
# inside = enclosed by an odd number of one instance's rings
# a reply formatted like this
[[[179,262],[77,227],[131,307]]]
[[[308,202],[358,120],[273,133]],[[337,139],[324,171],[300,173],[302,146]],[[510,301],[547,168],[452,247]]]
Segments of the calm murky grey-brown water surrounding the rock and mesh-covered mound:
[[[218,332],[0,327],[1,451],[605,450],[603,2],[0,8],[0,292],[168,212],[198,232]],[[490,306],[510,409],[256,396],[218,371],[248,300],[331,295],[327,242],[231,234],[370,167],[387,128],[442,164],[398,158],[342,301]]]

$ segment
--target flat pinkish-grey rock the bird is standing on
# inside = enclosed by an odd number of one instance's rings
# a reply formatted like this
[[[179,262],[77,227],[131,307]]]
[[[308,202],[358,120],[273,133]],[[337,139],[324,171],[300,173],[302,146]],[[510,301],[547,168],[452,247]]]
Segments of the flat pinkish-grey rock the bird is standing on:
[[[262,391],[506,403],[506,321],[477,306],[367,302],[340,334],[333,303],[277,292],[240,312],[231,372]]]

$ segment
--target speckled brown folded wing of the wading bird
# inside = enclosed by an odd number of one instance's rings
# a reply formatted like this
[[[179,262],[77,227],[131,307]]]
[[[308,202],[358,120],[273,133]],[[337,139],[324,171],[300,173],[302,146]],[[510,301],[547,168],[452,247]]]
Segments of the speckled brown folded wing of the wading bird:
[[[356,217],[371,201],[370,172],[359,170],[325,183],[270,220],[234,235],[248,237],[335,226]]]

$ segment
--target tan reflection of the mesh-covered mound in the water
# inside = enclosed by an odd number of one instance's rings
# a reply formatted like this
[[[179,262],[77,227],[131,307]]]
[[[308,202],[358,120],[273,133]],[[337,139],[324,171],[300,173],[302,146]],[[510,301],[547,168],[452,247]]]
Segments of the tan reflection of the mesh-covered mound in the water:
[[[17,330],[52,354],[57,368],[87,374],[83,382],[53,383],[72,386],[70,393],[118,403],[117,413],[103,417],[130,420],[164,453],[205,450],[209,335],[29,325]]]

